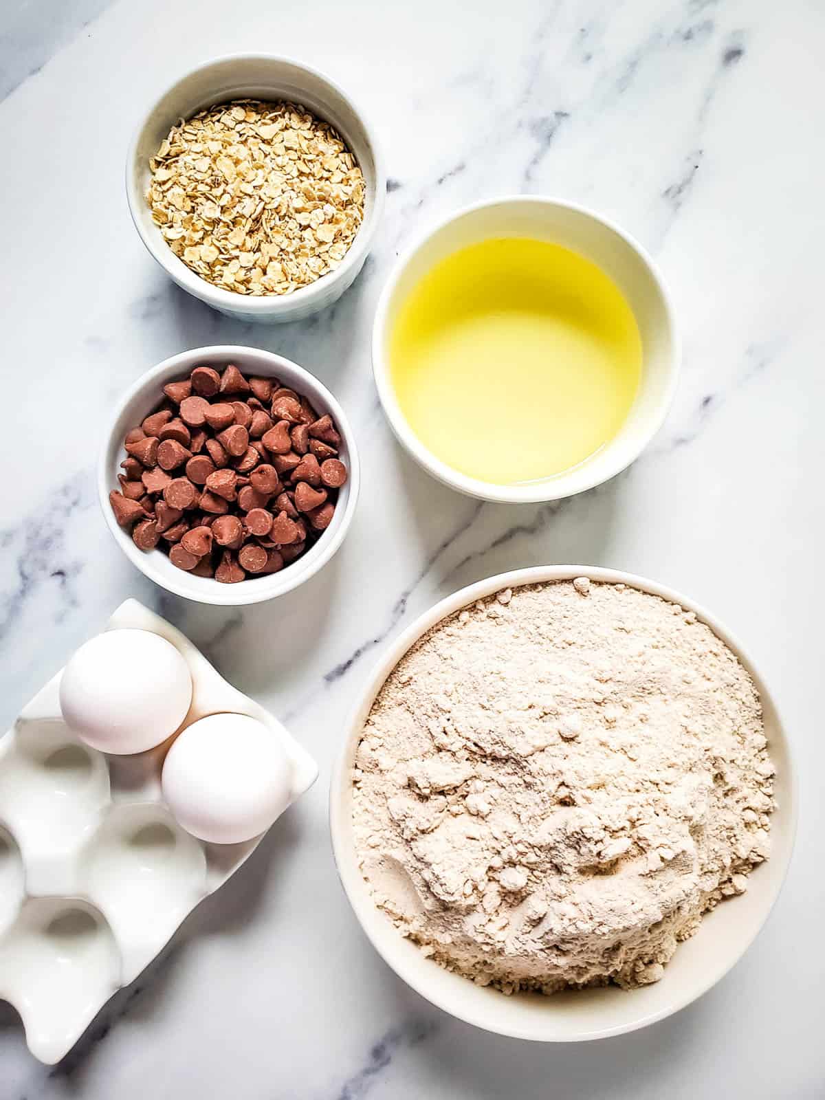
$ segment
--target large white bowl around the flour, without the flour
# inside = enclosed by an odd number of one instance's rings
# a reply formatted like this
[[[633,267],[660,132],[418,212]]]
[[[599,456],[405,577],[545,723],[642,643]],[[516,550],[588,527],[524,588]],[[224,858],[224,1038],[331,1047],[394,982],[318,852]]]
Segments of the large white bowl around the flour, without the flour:
[[[736,654],[750,673],[762,702],[765,729],[777,767],[778,809],[771,815],[771,857],[757,867],[746,893],[706,914],[692,939],[679,945],[661,981],[626,991],[617,987],[540,993],[504,993],[475,986],[469,978],[443,970],[405,939],[392,921],[376,909],[358,866],[352,829],[352,768],[364,721],[387,675],[427,630],[453,612],[502,588],[546,581],[592,581],[627,584],[681,604]],[[355,916],[373,947],[398,977],[438,1008],[459,1020],[499,1035],[544,1043],[572,1043],[604,1038],[645,1027],[690,1004],[717,982],[740,958],[768,919],[788,870],[796,825],[796,789],[791,747],[768,688],[739,642],[704,608],[664,585],[630,573],[590,565],[542,565],[501,573],[453,593],[420,616],[387,649],[367,681],[346,727],[330,788],[330,828],[338,873]]]

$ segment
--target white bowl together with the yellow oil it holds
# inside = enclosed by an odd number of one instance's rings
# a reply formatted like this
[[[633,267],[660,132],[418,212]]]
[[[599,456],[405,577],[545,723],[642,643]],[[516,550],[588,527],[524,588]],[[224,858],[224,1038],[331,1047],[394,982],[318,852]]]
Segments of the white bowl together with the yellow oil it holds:
[[[607,481],[661,426],[678,374],[672,310],[641,246],[540,197],[471,207],[397,264],[373,367],[399,441],[491,501]]]

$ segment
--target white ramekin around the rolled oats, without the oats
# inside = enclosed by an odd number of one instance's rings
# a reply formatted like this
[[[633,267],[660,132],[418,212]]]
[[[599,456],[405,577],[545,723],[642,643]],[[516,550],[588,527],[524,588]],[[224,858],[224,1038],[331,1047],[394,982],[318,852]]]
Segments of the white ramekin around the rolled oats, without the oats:
[[[170,128],[205,107],[231,99],[287,100],[301,103],[330,122],[352,151],[364,175],[364,220],[339,267],[293,294],[235,294],[200,278],[179,260],[152,220],[146,205],[148,160]],[[337,301],[364,266],[386,194],[386,176],[375,138],[349,96],[317,69],[287,57],[237,54],[207,62],[182,77],[154,103],[141,122],[127,157],[127,198],[146,249],[178,286],[208,306],[245,321],[297,321]]]

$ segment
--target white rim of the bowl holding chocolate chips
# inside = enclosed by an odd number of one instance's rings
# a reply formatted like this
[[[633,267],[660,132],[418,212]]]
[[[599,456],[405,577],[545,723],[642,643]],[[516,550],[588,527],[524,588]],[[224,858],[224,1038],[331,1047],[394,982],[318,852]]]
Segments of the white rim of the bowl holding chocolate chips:
[[[182,573],[179,582],[176,576],[173,576],[170,580],[157,576],[151,564],[152,553],[144,553],[134,546],[129,535],[127,535],[123,529],[118,526],[109,504],[109,493],[117,486],[111,484],[108,453],[114,439],[114,428],[125,408],[155,381],[161,380],[164,376],[170,376],[177,372],[185,372],[187,369],[196,366],[198,361],[206,359],[207,356],[226,358],[228,362],[231,362],[232,359],[241,359],[241,356],[245,360],[248,360],[249,356],[252,356],[257,362],[272,366],[273,373],[284,366],[288,367],[289,371],[297,372],[300,383],[306,387],[306,396],[311,400],[314,395],[319,394],[329,406],[336,425],[342,438],[346,442],[349,459],[346,501],[343,508],[343,515],[337,529],[331,532],[331,538],[329,539],[328,544],[318,554],[316,560],[302,570],[296,570],[293,576],[289,576],[290,569],[287,566],[277,573],[271,573],[266,580],[263,578],[258,579],[260,584],[257,585],[246,585],[243,582],[240,584],[221,585],[220,597],[222,598],[209,595],[207,592],[197,594],[197,592],[189,591],[189,586],[185,581],[188,573],[183,571],[178,571]],[[249,366],[243,366],[242,370],[249,372]],[[148,416],[148,413],[146,413],[145,416]],[[122,447],[122,441],[120,446]],[[243,344],[209,344],[204,348],[191,348],[188,351],[177,352],[175,355],[169,355],[167,359],[156,363],[154,366],[150,367],[148,371],[145,371],[142,375],[140,375],[140,377],[138,377],[121,395],[107,420],[106,431],[103,433],[103,439],[98,453],[97,484],[98,501],[100,503],[107,527],[127,558],[129,558],[132,564],[139,569],[144,576],[148,578],[150,581],[153,581],[165,591],[170,592],[176,596],[182,596],[184,600],[191,600],[195,603],[208,604],[213,607],[245,607],[251,604],[265,603],[268,600],[275,600],[277,596],[283,596],[287,592],[292,592],[293,588],[297,588],[305,581],[315,576],[315,574],[332,559],[341,547],[341,543],[343,542],[355,515],[361,487],[361,464],[359,460],[358,447],[355,444],[355,437],[350,426],[350,421],[346,418],[346,414],[334,394],[332,394],[332,392],[319,378],[317,378],[314,374],[310,374],[306,367],[300,366],[298,363],[287,359],[285,355],[278,355],[276,352],[265,351],[262,348],[248,348]],[[319,539],[316,543],[317,546],[320,546],[327,534],[329,532],[323,532],[321,539]],[[280,579],[279,582],[278,579]],[[223,592],[224,588],[227,590],[226,593]]]

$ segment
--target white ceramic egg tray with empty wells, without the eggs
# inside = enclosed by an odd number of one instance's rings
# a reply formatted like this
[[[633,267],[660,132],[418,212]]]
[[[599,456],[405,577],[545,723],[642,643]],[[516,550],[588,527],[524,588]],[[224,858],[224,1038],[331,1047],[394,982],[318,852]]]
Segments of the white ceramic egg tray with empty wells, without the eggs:
[[[50,1065],[264,835],[208,844],[177,824],[161,793],[177,734],[210,714],[249,715],[284,747],[290,804],[318,776],[280,723],[227,683],[179,630],[135,600],[106,626],[120,628],[150,630],[183,654],[193,698],[176,734],[134,756],[90,748],[63,721],[61,671],[0,738],[0,999],[20,1013],[29,1049]]]

